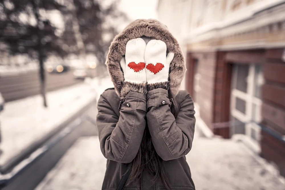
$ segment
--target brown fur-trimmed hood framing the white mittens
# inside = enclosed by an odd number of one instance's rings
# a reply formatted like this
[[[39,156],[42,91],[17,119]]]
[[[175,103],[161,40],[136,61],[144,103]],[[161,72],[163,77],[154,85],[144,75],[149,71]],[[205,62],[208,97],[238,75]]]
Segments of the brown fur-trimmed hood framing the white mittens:
[[[120,61],[125,55],[126,44],[131,39],[144,36],[164,41],[167,47],[167,53],[174,52],[174,58],[169,69],[169,86],[172,94],[176,96],[186,72],[184,56],[177,40],[168,31],[167,27],[154,19],[138,19],[131,22],[113,39],[109,47],[105,64],[107,65],[108,72],[118,96],[120,96],[119,92],[121,91],[122,82],[124,81]]]

